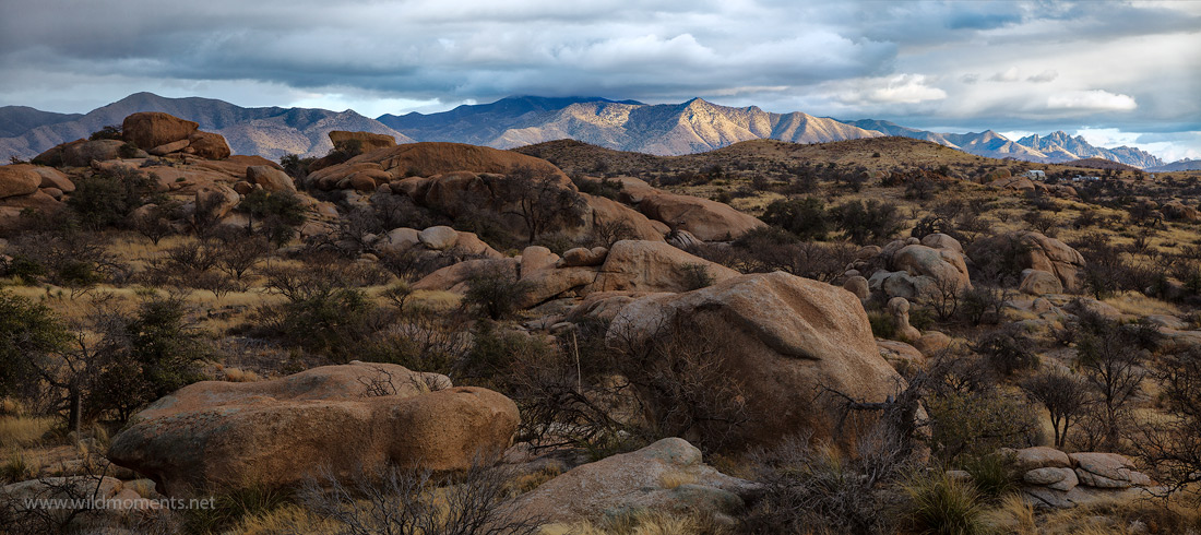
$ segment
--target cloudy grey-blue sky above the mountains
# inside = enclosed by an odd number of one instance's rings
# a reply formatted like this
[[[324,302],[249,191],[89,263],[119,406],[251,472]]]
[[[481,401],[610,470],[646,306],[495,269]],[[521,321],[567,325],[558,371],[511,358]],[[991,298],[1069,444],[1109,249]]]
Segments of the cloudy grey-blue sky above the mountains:
[[[1201,1],[0,1],[0,105],[436,112],[507,95],[1065,130],[1201,157]]]

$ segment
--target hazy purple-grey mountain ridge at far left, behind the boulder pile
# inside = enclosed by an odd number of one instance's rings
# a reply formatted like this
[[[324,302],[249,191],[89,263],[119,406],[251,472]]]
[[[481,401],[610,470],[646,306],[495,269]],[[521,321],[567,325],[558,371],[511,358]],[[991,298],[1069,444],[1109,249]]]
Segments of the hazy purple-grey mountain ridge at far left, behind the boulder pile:
[[[8,108],[4,109],[7,113]],[[375,119],[353,111],[243,108],[213,99],[166,99],[151,93],[137,93],[84,115],[64,115],[61,118],[71,119],[42,124],[13,137],[0,138],[0,155],[30,157],[60,143],[86,138],[107,125],[121,124],[127,115],[137,112],[163,112],[196,121],[202,130],[225,136],[234,154],[258,155],[271,160],[285,154],[324,156],[333,148],[327,136],[331,130],[383,133],[401,143],[412,142]],[[2,120],[0,124],[8,125]],[[16,127],[8,126],[6,130]]]

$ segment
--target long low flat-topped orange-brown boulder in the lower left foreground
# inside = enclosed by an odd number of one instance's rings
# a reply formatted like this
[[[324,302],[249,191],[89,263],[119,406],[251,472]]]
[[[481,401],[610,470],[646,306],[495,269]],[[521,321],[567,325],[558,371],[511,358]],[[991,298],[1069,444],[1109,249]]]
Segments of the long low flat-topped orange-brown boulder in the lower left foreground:
[[[348,480],[389,464],[461,470],[506,448],[518,409],[444,375],[352,362],[270,381],[203,381],[162,398],[112,440],[108,458],[169,497]]]

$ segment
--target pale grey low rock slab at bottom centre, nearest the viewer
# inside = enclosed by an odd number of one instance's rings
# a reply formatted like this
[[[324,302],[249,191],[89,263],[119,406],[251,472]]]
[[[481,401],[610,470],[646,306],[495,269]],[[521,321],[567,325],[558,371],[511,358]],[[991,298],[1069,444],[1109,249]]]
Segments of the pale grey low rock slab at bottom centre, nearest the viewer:
[[[560,525],[634,511],[730,515],[754,491],[754,483],[704,464],[700,450],[671,438],[576,466],[518,498],[513,511]]]

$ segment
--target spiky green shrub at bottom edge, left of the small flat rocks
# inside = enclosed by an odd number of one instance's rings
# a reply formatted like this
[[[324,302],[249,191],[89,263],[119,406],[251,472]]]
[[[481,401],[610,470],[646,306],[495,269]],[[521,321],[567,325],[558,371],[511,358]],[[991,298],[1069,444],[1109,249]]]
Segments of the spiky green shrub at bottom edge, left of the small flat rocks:
[[[910,533],[976,535],[991,531],[980,493],[970,482],[956,480],[945,471],[916,472],[902,489],[907,498],[902,517]]]

